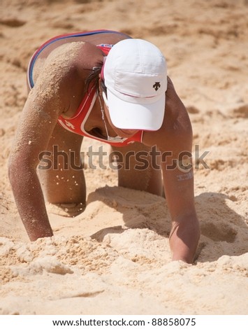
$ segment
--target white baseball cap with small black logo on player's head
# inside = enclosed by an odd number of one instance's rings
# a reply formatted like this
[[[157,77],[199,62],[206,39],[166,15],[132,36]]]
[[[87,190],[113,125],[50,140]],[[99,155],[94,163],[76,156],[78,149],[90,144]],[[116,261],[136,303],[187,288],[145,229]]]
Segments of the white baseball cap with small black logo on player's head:
[[[103,76],[115,127],[159,130],[167,90],[166,59],[159,48],[141,39],[119,41],[108,53]]]

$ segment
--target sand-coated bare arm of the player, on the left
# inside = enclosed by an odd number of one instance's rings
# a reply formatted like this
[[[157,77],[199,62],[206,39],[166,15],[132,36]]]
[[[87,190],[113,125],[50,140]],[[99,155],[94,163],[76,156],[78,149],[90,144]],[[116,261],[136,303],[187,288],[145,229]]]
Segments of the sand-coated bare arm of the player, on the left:
[[[57,90],[62,94],[60,81],[48,74],[39,77],[24,105],[8,162],[17,210],[31,241],[52,236],[36,167],[64,109],[63,96]]]

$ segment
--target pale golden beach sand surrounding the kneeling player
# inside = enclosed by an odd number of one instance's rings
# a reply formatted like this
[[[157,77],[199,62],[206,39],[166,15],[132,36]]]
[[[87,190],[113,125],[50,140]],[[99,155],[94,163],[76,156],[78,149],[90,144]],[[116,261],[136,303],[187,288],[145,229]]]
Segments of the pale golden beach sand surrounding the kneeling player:
[[[0,314],[248,314],[248,1],[0,6]],[[194,265],[170,260],[163,198],[118,188],[107,161],[85,169],[82,214],[49,215],[54,237],[30,242],[20,221],[7,163],[29,58],[53,36],[92,29],[145,38],[166,56],[194,130]],[[82,151],[91,145],[101,146],[85,139]]]

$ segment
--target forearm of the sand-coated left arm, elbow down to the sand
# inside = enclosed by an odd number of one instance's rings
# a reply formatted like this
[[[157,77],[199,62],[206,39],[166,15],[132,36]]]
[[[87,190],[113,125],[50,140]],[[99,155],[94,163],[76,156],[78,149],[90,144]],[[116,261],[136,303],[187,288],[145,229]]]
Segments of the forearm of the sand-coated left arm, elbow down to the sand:
[[[16,167],[10,167],[9,179],[17,210],[29,239],[34,241],[40,237],[51,237],[52,228],[36,170],[17,170]]]

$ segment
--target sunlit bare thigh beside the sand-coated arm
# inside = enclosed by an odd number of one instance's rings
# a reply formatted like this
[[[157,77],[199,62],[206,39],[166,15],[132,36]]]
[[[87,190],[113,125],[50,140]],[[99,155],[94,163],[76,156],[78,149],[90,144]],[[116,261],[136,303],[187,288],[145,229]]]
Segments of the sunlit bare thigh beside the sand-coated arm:
[[[80,135],[56,125],[38,166],[45,200],[51,204],[85,204],[85,177],[80,165],[81,144]]]

